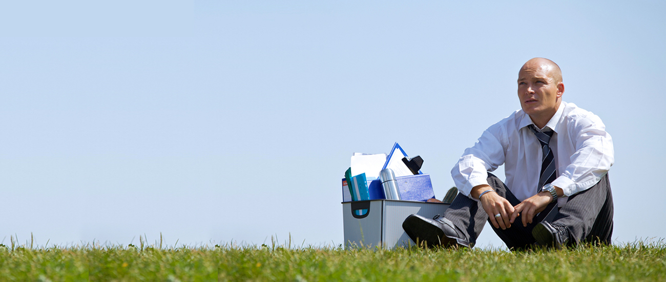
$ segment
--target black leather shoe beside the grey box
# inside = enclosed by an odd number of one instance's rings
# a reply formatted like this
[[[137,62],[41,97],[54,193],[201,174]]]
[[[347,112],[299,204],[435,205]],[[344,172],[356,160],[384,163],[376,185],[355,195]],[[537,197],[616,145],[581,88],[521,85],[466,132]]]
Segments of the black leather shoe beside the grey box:
[[[425,242],[427,247],[470,247],[464,235],[456,231],[454,224],[436,215],[433,219],[428,219],[420,215],[410,215],[402,223],[402,229],[412,241],[422,244]]]

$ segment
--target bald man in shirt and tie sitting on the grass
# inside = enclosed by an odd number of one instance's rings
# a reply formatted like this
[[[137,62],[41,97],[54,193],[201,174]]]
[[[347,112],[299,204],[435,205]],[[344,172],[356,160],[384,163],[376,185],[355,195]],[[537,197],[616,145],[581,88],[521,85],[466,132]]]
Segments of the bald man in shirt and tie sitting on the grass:
[[[559,66],[534,58],[518,73],[521,110],[492,125],[451,174],[460,193],[442,217],[402,227],[429,247],[473,247],[486,220],[509,249],[610,243],[613,141],[601,119],[562,101]],[[505,166],[506,183],[488,173]]]

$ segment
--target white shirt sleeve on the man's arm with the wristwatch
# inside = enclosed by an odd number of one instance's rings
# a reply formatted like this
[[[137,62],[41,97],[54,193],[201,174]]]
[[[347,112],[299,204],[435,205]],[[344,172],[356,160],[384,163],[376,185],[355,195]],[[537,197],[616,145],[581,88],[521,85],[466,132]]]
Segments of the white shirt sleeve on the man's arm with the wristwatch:
[[[553,186],[571,196],[594,186],[615,161],[613,139],[596,115],[588,115],[569,124],[574,139],[575,153],[568,165],[553,181]]]

